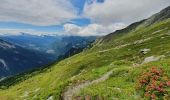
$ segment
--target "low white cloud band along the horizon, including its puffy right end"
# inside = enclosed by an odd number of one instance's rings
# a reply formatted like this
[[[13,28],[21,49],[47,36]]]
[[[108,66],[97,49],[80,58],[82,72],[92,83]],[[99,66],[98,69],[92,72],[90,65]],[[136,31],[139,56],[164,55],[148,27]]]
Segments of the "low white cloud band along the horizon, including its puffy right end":
[[[8,29],[0,28],[0,35],[21,35],[22,33],[27,33],[30,35],[66,35],[66,36],[96,36],[96,35],[106,35],[117,29],[122,29],[125,27],[125,24],[116,23],[108,26],[103,26],[100,24],[89,24],[84,27],[80,27],[75,24],[65,24],[63,26],[64,30],[62,32],[44,32],[34,29]]]

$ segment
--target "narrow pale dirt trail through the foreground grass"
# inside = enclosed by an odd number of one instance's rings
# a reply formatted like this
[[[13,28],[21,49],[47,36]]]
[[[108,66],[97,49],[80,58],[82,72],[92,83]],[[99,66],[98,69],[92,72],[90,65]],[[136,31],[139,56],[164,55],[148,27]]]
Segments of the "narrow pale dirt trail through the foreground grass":
[[[93,81],[86,81],[85,83],[79,84],[77,86],[71,86],[69,87],[64,93],[63,93],[63,100],[72,100],[74,94],[80,92],[81,89],[88,87],[92,84],[99,83],[102,81],[105,81],[109,78],[109,76],[113,73],[113,71],[109,71],[100,78],[93,80]]]

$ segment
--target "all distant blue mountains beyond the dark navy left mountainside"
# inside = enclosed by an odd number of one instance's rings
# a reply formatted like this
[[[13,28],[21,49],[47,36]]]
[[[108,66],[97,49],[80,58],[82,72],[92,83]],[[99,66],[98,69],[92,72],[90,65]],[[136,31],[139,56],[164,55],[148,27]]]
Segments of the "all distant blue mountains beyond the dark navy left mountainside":
[[[0,38],[26,49],[53,55],[55,60],[65,55],[66,52],[70,52],[70,49],[74,47],[83,50],[90,42],[96,39],[94,36],[37,36],[28,33],[22,33],[21,35],[5,35],[0,36]]]

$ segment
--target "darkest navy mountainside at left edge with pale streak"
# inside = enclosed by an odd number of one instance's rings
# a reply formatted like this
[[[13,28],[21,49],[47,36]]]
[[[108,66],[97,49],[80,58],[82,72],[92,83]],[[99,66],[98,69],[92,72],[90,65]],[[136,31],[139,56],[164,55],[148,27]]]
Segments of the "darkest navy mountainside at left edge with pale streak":
[[[51,57],[0,40],[0,78],[45,66]]]

